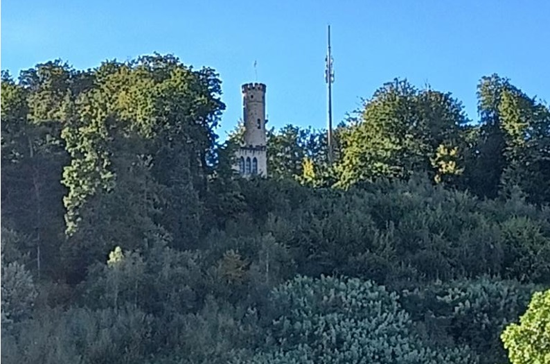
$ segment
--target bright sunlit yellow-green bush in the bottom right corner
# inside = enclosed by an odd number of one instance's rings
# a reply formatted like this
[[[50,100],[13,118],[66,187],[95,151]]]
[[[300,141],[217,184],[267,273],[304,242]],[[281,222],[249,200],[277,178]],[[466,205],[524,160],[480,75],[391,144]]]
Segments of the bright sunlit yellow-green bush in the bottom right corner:
[[[550,290],[533,295],[520,324],[502,333],[512,364],[543,364],[550,361]]]

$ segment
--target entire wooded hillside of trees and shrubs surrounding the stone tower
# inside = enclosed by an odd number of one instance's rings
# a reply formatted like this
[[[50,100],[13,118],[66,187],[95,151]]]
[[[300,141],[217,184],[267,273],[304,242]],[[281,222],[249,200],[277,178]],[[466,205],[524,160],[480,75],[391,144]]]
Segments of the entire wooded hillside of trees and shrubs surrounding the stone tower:
[[[324,130],[286,125],[269,177],[243,179],[214,69],[3,71],[2,360],[526,363],[550,310],[550,109],[497,75],[477,97],[472,121],[391,80],[334,163]]]

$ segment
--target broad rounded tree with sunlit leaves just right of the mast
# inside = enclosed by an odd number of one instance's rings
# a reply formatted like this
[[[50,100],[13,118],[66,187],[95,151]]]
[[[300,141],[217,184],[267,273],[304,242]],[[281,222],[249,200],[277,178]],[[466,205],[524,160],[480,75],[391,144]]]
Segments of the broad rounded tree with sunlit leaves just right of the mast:
[[[450,94],[419,92],[407,80],[385,84],[342,133],[337,186],[414,173],[452,180],[462,172],[466,121]]]

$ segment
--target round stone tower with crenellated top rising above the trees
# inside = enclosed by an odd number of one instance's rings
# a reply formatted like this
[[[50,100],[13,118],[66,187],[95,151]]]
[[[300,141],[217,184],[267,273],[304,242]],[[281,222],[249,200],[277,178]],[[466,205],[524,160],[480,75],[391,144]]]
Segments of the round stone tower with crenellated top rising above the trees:
[[[267,177],[267,150],[265,138],[265,85],[242,85],[242,117],[245,121],[245,139],[237,151],[235,168],[245,177]]]

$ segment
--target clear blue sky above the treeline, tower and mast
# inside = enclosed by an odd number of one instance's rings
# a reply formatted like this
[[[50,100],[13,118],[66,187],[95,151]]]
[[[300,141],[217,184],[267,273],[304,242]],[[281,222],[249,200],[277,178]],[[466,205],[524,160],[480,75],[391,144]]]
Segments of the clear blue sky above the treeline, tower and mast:
[[[269,125],[326,125],[326,27],[335,58],[335,123],[382,83],[408,78],[452,92],[477,120],[476,85],[499,73],[550,101],[550,1],[3,0],[1,68],[17,75],[61,58],[77,69],[103,60],[173,53],[215,68],[227,110],[222,138],[242,112],[240,85],[267,84]]]

